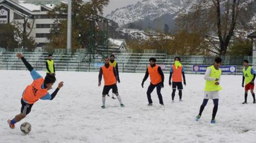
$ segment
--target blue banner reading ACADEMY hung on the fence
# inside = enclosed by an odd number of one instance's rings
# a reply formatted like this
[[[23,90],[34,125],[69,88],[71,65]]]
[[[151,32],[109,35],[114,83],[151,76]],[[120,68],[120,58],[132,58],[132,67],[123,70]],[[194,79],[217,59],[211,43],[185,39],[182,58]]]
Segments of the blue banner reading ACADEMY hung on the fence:
[[[194,72],[205,72],[208,65],[193,65]],[[224,65],[220,67],[223,73],[236,73],[236,65]]]

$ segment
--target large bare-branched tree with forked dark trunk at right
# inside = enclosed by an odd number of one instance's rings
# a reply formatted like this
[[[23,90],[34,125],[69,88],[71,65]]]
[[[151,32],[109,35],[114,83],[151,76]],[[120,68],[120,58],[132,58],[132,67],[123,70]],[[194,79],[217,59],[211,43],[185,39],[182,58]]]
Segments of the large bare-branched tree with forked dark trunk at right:
[[[211,53],[226,55],[232,40],[243,39],[255,29],[255,22],[250,22],[255,6],[255,0],[197,0],[189,12],[179,16],[178,25],[190,33],[200,33],[205,39],[202,44],[207,43]]]

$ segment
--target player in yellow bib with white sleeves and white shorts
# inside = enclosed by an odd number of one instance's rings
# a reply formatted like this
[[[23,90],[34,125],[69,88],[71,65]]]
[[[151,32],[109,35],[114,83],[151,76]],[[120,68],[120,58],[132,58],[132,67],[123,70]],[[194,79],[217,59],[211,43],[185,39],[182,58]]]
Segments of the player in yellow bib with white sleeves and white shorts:
[[[195,120],[198,121],[202,112],[204,111],[204,107],[206,106],[209,99],[213,99],[213,115],[210,123],[215,124],[215,116],[218,110],[219,103],[219,90],[221,90],[221,86],[219,85],[220,77],[221,77],[221,69],[219,68],[221,65],[222,59],[217,57],[215,58],[214,65],[207,67],[204,79],[206,80],[205,88],[204,88],[204,100],[200,107],[200,112],[196,116]]]

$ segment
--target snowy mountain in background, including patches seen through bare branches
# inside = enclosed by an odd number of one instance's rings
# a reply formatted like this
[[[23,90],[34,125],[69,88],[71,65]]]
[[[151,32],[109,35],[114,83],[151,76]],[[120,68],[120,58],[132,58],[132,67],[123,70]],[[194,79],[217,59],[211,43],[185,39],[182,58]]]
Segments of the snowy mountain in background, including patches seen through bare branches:
[[[169,32],[177,28],[176,18],[179,14],[193,13],[191,6],[198,0],[143,0],[134,5],[128,5],[116,9],[107,15],[119,24],[119,27],[138,28],[138,29],[155,29],[163,32],[165,25],[169,26]],[[256,0],[244,0],[241,7],[252,7]],[[212,6],[212,2],[206,2],[204,9]],[[246,8],[244,8],[246,9]],[[256,7],[249,8],[251,11]],[[250,19],[248,19],[250,20]],[[132,24],[131,24],[132,23]]]

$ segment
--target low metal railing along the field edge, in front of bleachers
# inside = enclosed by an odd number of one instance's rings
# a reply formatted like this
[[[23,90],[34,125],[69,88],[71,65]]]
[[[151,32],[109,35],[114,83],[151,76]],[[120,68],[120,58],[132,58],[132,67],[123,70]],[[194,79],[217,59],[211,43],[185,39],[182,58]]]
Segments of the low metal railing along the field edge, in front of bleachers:
[[[36,70],[44,70],[46,71],[46,63],[44,61],[28,61]],[[100,63],[82,63],[82,62],[60,62],[56,61],[54,63],[56,71],[99,71],[100,67],[104,65],[103,62]],[[186,69],[186,73],[189,74],[202,74],[200,72],[193,72],[194,64],[184,64],[183,66]],[[202,64],[200,64],[202,65]],[[206,65],[206,64],[204,64]],[[171,68],[171,63],[169,64],[160,64],[164,73],[169,73]],[[143,73],[146,71],[148,64],[131,64],[131,63],[118,63],[119,72],[130,72],[130,73]],[[243,66],[237,66],[237,73],[241,74]],[[22,63],[22,61],[1,61],[0,69],[6,70],[26,70],[26,67]]]

